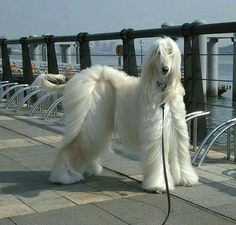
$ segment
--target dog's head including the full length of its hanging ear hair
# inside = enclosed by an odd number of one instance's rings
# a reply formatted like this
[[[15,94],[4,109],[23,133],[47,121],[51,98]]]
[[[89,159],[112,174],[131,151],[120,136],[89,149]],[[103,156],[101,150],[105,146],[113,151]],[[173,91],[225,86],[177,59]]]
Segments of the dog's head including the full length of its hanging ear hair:
[[[164,92],[164,101],[176,94],[184,95],[181,85],[181,53],[177,44],[168,37],[158,39],[146,56],[142,71],[145,93],[153,98],[157,90]]]

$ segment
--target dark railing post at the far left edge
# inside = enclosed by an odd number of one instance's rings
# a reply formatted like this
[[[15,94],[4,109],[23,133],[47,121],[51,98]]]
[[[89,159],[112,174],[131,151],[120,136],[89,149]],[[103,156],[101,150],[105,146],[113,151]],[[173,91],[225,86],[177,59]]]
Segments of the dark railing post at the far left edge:
[[[9,58],[9,52],[7,49],[6,39],[0,40],[0,45],[2,49],[2,73],[3,80],[12,81],[11,63]]]

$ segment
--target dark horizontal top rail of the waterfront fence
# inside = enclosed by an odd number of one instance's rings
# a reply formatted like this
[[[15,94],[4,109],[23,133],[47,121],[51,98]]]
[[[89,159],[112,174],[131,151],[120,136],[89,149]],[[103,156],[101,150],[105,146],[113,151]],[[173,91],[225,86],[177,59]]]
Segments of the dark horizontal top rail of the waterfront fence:
[[[170,26],[165,28],[130,30],[128,38],[151,38],[162,35],[182,37],[187,35],[216,34],[216,33],[234,33],[236,32],[236,22],[212,23],[212,24],[184,24],[180,26]],[[122,39],[122,32],[87,34],[83,38],[85,41],[102,41]],[[77,35],[52,36],[54,42],[76,42]],[[20,44],[20,39],[5,40],[6,44]],[[29,44],[45,43],[44,37],[27,38]]]

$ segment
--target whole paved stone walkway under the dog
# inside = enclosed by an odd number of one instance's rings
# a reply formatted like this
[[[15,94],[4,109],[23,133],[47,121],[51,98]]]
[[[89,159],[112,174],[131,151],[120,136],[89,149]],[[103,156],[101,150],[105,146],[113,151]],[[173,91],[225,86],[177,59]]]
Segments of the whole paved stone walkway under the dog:
[[[48,182],[63,127],[56,119],[15,116],[0,109],[0,225],[161,224],[165,194],[141,189],[137,157],[121,151],[103,157],[104,171],[74,185]],[[236,224],[236,165],[211,152],[199,185],[171,194],[168,225]]]

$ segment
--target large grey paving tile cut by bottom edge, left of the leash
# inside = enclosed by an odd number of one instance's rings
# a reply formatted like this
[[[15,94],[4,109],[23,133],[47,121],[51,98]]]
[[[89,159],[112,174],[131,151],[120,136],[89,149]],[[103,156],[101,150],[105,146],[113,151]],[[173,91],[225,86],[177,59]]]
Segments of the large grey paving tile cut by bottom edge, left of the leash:
[[[27,216],[11,217],[17,225],[126,225],[94,205],[86,204]]]

